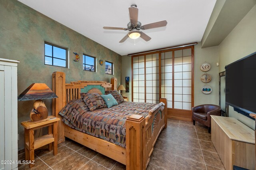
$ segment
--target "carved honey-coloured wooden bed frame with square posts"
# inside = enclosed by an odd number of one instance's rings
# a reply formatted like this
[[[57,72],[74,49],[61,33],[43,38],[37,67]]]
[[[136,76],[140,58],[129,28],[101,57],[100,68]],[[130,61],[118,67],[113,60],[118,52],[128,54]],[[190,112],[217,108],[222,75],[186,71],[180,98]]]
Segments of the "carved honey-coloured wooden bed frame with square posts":
[[[105,81],[76,81],[66,84],[65,73],[52,73],[52,90],[58,96],[52,102],[52,115],[62,119],[58,114],[59,111],[68,101],[79,99],[81,89],[87,85],[100,85],[105,90],[114,90],[112,85]],[[155,119],[156,113],[160,110],[159,107],[153,113],[150,112],[147,117],[131,115],[127,118],[126,148],[70,128],[62,121],[58,121],[58,144],[64,142],[66,136],[126,165],[126,170],[144,170],[148,166],[158,135],[164,127],[167,127],[167,100],[161,98],[160,102],[165,103],[162,117],[156,116]],[[153,122],[154,127],[152,127]]]

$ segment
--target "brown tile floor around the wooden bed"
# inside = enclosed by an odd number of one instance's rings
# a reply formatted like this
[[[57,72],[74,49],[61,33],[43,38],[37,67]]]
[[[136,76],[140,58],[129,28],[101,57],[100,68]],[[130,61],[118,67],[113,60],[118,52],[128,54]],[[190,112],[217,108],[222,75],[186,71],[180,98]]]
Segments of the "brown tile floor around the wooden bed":
[[[18,155],[24,160],[24,153]],[[29,169],[19,165],[19,170]],[[35,170],[125,170],[125,165],[68,138],[58,145],[54,156],[46,147],[35,151]],[[154,146],[147,170],[219,170],[225,169],[207,127],[192,122],[168,119]]]

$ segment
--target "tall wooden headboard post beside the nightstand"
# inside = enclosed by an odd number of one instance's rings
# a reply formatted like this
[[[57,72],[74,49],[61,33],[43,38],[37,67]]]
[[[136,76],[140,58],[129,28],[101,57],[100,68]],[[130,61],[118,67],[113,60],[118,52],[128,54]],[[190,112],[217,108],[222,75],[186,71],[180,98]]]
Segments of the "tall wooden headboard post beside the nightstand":
[[[66,105],[65,73],[58,71],[52,73],[52,91],[58,96],[52,101],[52,115],[62,119],[58,113]],[[57,126],[58,144],[60,144],[65,141],[63,122],[58,121]]]

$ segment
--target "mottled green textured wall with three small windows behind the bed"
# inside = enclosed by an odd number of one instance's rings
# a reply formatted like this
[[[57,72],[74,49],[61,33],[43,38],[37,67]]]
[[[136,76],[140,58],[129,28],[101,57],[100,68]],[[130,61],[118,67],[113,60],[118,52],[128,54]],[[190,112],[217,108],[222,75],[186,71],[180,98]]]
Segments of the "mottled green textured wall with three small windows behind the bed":
[[[74,23],[79,24],[79,23]],[[46,83],[52,88],[52,73],[66,73],[66,83],[77,80],[101,80],[111,77],[121,80],[121,56],[82,36],[66,26],[44,16],[16,0],[0,0],[0,58],[19,60],[18,95],[31,83]],[[44,65],[44,41],[68,48],[69,68]],[[74,62],[77,52],[80,61]],[[114,63],[114,75],[106,75],[104,65],[96,63],[97,72],[83,71],[82,54],[86,53]],[[24,148],[24,129],[20,122],[30,119],[34,101],[18,102],[18,147]],[[52,99],[44,102],[51,115]],[[45,132],[45,130],[43,130]],[[41,132],[42,133],[42,132]],[[39,133],[36,132],[35,136]]]

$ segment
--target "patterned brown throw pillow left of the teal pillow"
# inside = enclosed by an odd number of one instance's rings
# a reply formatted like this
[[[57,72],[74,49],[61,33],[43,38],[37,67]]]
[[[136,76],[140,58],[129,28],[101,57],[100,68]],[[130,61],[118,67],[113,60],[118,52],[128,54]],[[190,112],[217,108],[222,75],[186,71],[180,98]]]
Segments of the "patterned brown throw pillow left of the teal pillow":
[[[90,111],[107,107],[98,93],[80,93],[80,95]]]

